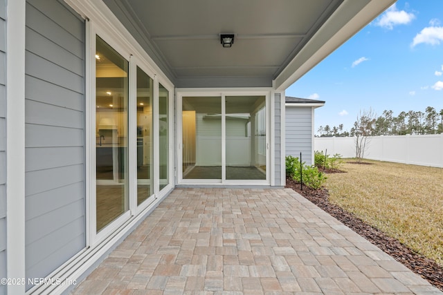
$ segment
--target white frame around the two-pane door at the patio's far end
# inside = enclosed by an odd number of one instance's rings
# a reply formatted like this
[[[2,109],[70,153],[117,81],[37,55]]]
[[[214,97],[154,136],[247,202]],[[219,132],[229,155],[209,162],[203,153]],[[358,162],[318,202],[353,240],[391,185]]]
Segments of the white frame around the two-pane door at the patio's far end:
[[[269,186],[273,179],[274,167],[271,166],[271,93],[272,88],[177,88],[176,89],[176,118],[177,118],[177,184],[181,185],[222,185],[222,186]],[[181,169],[183,163],[183,97],[221,97],[221,180],[188,180],[183,179]],[[266,103],[266,179],[265,180],[226,180],[226,103],[227,96],[264,96]]]

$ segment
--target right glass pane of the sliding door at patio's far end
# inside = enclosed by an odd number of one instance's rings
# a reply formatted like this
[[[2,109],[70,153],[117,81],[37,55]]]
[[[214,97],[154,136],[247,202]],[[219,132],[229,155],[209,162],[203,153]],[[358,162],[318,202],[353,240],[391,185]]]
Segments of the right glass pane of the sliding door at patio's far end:
[[[266,180],[266,97],[225,101],[226,180]]]

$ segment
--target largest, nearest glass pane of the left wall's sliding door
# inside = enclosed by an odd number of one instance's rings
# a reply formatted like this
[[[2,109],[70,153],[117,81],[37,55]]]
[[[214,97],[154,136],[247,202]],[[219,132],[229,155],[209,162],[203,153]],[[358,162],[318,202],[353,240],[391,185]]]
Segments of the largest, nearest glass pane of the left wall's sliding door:
[[[129,209],[127,189],[129,63],[96,39],[96,230]]]

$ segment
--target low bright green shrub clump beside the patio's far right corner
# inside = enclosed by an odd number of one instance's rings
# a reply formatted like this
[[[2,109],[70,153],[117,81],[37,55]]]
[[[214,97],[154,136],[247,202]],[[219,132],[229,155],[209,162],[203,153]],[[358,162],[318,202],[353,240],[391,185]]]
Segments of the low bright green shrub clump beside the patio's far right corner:
[[[326,181],[326,176],[316,166],[302,162],[300,171],[300,159],[291,155],[286,157],[286,175],[312,189],[320,189]]]

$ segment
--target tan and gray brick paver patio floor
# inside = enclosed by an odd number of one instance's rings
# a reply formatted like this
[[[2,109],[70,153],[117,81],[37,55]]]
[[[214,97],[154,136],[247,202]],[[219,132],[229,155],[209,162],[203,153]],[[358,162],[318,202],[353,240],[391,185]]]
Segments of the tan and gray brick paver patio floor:
[[[443,294],[291,189],[175,189],[73,294]]]

